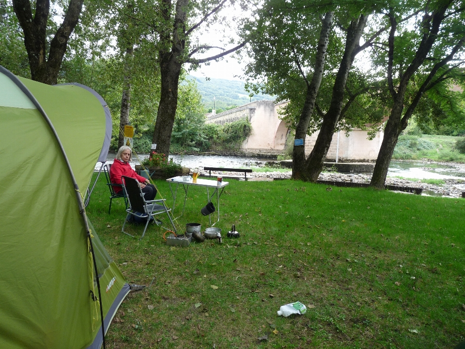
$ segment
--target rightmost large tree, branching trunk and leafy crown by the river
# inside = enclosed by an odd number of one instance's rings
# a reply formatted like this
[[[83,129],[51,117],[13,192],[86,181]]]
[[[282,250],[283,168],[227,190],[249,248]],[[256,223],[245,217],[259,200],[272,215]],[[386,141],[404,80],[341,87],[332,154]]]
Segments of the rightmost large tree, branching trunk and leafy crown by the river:
[[[386,66],[391,111],[370,186],[384,189],[398,137],[407,127],[422,95],[452,78],[454,70],[463,64],[464,10],[464,2],[453,0],[420,4],[412,1],[388,8],[387,42],[376,46],[387,46],[387,50],[375,52],[377,62]],[[400,26],[403,18],[412,13],[415,15],[412,21]]]

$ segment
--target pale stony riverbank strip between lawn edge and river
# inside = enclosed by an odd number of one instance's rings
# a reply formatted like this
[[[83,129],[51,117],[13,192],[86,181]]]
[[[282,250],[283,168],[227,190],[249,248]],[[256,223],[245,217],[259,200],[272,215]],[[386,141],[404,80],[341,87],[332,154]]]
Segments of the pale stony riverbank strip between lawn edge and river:
[[[450,165],[450,163],[449,163]],[[464,166],[458,164],[458,166]],[[200,174],[208,174],[207,171],[199,169]],[[212,173],[213,174],[213,173]],[[228,174],[228,173],[223,173]],[[234,173],[237,174],[237,173]],[[271,180],[271,179],[289,179],[291,178],[291,171],[288,172],[253,172],[251,180]],[[323,172],[320,174],[318,179],[320,180],[332,180],[340,182],[355,182],[355,183],[370,183],[372,174],[341,174],[334,172]],[[267,178],[267,179],[265,179]],[[445,179],[444,185],[432,185],[423,183],[421,181],[413,182],[406,179],[400,179],[395,177],[387,177],[386,184],[395,185],[401,187],[413,187],[423,189],[423,195],[432,196],[448,196],[448,197],[462,197],[462,191],[465,191],[465,179]]]

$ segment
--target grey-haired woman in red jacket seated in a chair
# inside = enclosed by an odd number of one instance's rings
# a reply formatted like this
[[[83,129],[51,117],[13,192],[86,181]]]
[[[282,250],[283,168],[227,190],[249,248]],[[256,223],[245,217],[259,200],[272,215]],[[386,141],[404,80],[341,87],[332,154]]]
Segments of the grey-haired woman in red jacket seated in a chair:
[[[140,176],[136,173],[129,164],[131,161],[131,148],[127,145],[123,145],[120,149],[118,149],[118,153],[116,154],[116,159],[111,165],[110,168],[110,181],[114,184],[123,184],[121,181],[121,176],[125,175],[127,177],[135,178],[140,182],[140,189],[144,194],[145,201],[153,200],[156,195],[156,189],[153,184],[150,184],[150,181]],[[116,193],[119,193],[123,190],[121,187],[113,187]]]

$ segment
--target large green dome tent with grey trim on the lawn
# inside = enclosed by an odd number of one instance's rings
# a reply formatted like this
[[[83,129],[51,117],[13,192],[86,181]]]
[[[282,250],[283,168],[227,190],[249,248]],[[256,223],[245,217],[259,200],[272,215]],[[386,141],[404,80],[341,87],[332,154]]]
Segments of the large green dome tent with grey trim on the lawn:
[[[98,349],[129,292],[82,203],[111,134],[89,90],[0,66],[0,348]]]

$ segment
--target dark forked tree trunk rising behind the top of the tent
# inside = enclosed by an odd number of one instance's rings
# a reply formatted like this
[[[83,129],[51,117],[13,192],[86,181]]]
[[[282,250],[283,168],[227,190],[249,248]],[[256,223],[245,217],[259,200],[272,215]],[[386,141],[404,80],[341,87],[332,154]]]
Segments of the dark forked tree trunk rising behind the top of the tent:
[[[32,80],[48,85],[57,83],[68,39],[78,24],[83,2],[83,0],[70,0],[63,23],[50,42],[47,59],[47,20],[50,1],[37,0],[35,14],[32,17],[29,0],[13,0],[13,8],[24,32],[24,45],[28,52]]]

